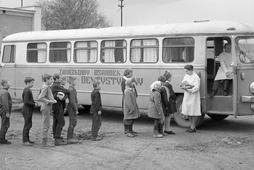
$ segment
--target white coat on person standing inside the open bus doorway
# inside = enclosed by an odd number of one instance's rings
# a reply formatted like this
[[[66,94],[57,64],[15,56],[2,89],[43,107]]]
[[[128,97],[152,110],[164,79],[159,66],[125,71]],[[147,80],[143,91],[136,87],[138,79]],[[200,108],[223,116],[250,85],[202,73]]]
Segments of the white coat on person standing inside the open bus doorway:
[[[232,64],[232,55],[230,53],[223,52],[219,55],[220,67],[215,76],[215,80],[232,79],[233,74],[229,77],[226,76],[227,72],[232,73],[233,69],[230,66]]]

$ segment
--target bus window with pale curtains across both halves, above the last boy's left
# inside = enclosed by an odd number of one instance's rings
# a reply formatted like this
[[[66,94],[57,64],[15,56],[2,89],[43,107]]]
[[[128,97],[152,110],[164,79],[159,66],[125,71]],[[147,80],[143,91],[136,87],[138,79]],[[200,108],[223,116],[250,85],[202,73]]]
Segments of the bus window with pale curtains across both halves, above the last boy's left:
[[[96,41],[79,41],[74,44],[74,62],[95,63],[98,44]]]

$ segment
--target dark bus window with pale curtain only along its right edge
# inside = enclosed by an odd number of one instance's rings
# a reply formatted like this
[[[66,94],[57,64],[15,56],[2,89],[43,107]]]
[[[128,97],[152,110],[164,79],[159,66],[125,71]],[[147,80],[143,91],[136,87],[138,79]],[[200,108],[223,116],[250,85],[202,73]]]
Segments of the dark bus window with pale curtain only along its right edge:
[[[70,42],[52,42],[49,46],[49,61],[52,63],[68,63],[71,58]]]

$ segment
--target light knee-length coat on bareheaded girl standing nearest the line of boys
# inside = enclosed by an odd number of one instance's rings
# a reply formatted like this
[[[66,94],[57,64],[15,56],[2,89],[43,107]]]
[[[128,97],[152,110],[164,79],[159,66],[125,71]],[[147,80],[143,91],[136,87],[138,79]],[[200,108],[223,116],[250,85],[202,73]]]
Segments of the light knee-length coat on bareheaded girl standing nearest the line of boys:
[[[124,90],[124,119],[137,119],[139,116],[136,94],[133,88],[126,87]]]

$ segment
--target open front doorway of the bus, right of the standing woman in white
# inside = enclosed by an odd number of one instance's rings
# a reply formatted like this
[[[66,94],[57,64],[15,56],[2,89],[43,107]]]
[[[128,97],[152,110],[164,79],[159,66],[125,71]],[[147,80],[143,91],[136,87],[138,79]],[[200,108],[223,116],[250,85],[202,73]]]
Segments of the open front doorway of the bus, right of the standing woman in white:
[[[224,82],[223,77],[220,77],[222,74],[220,58],[222,57],[219,56],[224,55],[226,44],[232,44],[231,38],[228,36],[209,37],[206,40],[206,112],[215,119],[233,114],[233,80]],[[225,54],[224,56],[227,56],[226,59],[232,60],[232,48],[227,51],[229,55]],[[227,87],[227,91],[225,91],[225,87]]]

